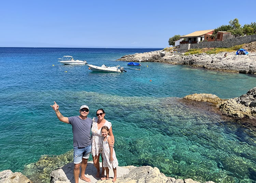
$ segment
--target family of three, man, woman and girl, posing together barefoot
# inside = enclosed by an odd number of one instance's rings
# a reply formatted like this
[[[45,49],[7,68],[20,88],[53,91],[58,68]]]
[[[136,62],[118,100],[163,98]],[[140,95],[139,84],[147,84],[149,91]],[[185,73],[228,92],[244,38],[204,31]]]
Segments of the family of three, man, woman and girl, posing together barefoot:
[[[90,153],[93,155],[94,166],[97,169],[96,178],[100,178],[99,159],[100,154],[102,154],[101,180],[109,179],[109,168],[113,168],[114,178],[112,182],[115,182],[118,161],[113,149],[114,135],[112,132],[112,124],[104,119],[105,111],[103,109],[98,109],[96,112],[98,118],[94,117],[92,120],[87,117],[89,114],[89,107],[86,105],[80,107],[79,116],[72,117],[64,117],[59,112],[59,106],[56,102],[54,102],[51,107],[55,111],[59,121],[72,125],[75,183],[79,182],[80,166],[80,179],[90,182],[90,179],[85,177],[85,170]],[[90,132],[92,132],[91,135]],[[106,169],[106,177],[104,176],[104,168]]]

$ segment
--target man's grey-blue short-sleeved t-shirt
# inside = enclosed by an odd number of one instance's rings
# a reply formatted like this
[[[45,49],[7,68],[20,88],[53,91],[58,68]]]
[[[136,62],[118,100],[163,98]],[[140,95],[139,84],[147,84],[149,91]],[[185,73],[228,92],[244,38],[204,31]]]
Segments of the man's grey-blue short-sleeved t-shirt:
[[[91,144],[91,125],[93,120],[87,117],[82,120],[79,116],[72,116],[69,118],[69,124],[73,129],[73,146],[74,147],[86,147]]]

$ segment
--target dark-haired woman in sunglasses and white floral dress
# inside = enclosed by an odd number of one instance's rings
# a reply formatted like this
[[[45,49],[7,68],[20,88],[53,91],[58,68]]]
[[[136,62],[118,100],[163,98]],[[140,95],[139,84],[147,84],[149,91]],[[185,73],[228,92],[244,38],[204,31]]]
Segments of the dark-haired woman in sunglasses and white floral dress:
[[[102,139],[103,136],[101,134],[101,128],[103,126],[107,126],[109,128],[109,135],[112,138],[112,144],[110,145],[113,147],[115,142],[114,135],[112,132],[112,124],[104,119],[105,111],[103,109],[98,109],[96,112],[98,118],[93,118],[93,125],[91,127],[91,154],[93,155],[93,163],[97,169],[96,178],[100,178],[100,154],[102,153]],[[102,158],[103,162],[103,158]],[[102,166],[101,177],[104,177],[105,169]]]

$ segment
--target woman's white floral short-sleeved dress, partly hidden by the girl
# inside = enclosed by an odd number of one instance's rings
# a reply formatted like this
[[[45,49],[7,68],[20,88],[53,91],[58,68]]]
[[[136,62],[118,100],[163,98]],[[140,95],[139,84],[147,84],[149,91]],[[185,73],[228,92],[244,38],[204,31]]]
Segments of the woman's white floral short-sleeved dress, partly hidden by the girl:
[[[99,155],[100,153],[102,153],[103,136],[101,134],[101,129],[98,129],[97,122],[98,122],[98,118],[94,117],[93,125],[91,127],[91,154],[93,154],[93,156]],[[110,129],[112,124],[106,120],[103,126],[107,126]]]

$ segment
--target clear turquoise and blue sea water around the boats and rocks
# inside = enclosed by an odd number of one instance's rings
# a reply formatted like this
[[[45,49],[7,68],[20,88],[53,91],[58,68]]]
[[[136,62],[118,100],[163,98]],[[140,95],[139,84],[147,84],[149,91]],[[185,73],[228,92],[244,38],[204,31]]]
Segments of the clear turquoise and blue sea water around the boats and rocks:
[[[160,49],[0,48],[0,171],[22,171],[43,154],[72,149],[71,125],[50,107],[56,101],[64,116],[78,115],[84,104],[89,117],[105,110],[120,166],[151,165],[202,182],[256,182],[255,126],[180,101],[193,93],[239,97],[256,77],[153,62],[138,71],[116,61],[154,50]],[[65,66],[57,62],[63,55],[127,72]]]

